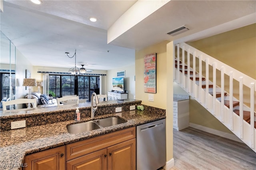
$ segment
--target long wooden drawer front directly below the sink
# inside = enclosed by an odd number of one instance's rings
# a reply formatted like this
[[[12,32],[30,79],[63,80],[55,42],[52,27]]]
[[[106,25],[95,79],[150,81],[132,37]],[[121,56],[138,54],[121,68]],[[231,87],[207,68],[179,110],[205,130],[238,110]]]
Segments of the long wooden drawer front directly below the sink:
[[[136,127],[108,133],[66,145],[67,160],[136,138]]]

